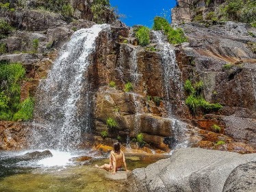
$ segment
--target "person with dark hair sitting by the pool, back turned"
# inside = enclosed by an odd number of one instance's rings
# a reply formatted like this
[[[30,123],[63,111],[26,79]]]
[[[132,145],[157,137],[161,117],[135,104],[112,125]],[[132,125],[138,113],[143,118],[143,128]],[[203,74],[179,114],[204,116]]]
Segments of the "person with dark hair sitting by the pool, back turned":
[[[116,171],[122,170],[122,165],[125,166],[125,171],[129,172],[125,162],[125,154],[120,150],[120,143],[114,143],[114,150],[110,152],[110,163],[104,165],[95,165],[95,167],[105,169],[109,172],[113,171],[112,174],[116,174]]]

